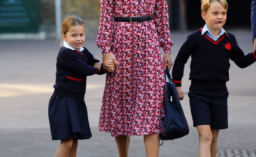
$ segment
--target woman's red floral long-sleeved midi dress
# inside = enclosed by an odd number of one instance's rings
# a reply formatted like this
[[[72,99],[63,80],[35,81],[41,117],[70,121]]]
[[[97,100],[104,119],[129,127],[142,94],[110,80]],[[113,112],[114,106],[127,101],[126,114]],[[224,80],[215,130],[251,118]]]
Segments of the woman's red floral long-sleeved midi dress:
[[[145,22],[114,22],[114,17],[148,16]],[[106,84],[99,131],[117,135],[159,134],[165,84],[160,47],[171,53],[167,0],[101,0],[96,40],[118,62]]]

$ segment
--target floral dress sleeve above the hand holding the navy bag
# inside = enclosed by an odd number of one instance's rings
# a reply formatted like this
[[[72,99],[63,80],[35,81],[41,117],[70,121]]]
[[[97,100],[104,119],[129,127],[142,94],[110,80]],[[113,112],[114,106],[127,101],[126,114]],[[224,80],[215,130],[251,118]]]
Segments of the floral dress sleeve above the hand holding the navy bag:
[[[156,0],[153,20],[156,25],[160,47],[164,53],[171,53],[173,42],[170,36],[167,0]]]

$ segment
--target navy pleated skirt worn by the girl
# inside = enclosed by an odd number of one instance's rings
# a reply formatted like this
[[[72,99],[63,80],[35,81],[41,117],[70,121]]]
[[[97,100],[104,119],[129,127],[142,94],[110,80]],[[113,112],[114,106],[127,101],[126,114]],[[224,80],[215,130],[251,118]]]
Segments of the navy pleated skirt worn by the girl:
[[[52,140],[82,140],[92,137],[83,100],[52,95],[48,115]]]

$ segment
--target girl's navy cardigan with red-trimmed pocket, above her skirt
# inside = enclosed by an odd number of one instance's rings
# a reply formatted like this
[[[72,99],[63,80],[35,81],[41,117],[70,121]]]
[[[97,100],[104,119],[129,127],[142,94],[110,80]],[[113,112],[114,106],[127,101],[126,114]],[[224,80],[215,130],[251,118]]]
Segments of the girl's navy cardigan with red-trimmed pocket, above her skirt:
[[[86,48],[79,52],[62,47],[57,56],[53,95],[84,100],[87,76],[106,73],[103,66],[100,71],[93,67],[96,62],[99,60]]]

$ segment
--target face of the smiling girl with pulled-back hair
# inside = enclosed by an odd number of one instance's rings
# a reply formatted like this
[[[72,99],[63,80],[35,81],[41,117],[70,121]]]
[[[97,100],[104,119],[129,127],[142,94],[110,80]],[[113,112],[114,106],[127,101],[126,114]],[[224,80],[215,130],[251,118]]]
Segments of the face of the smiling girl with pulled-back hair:
[[[68,43],[72,48],[79,49],[84,45],[84,25],[75,25],[71,27],[66,35],[62,35],[62,39]]]

